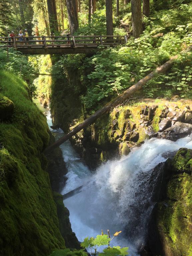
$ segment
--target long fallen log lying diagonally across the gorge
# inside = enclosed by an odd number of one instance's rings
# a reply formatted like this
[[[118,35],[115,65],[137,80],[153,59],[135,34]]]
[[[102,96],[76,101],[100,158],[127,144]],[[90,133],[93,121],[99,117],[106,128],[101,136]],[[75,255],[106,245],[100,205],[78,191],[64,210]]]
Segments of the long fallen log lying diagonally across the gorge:
[[[180,52],[180,54],[187,53],[192,50],[192,45],[187,48],[186,50],[183,50]],[[103,108],[96,111],[94,114],[89,116],[87,119],[84,120],[83,123],[80,123],[75,128],[73,128],[70,132],[65,134],[62,138],[58,139],[56,142],[54,142],[52,145],[47,147],[44,151],[44,154],[47,156],[49,155],[56,147],[59,147],[62,143],[64,143],[66,140],[71,138],[73,135],[75,135],[77,132],[81,131],[82,129],[86,128],[88,125],[92,124],[97,120],[101,115],[111,110],[111,108],[116,107],[120,103],[124,102],[129,96],[131,96],[134,92],[140,90],[143,85],[145,85],[149,80],[154,78],[155,76],[165,73],[168,69],[171,68],[174,61],[178,58],[179,55],[173,56],[170,60],[165,62],[160,67],[156,68],[154,71],[152,71],[149,75],[142,78],[139,82],[132,85],[130,88],[128,88],[126,91],[118,95],[116,98],[111,100],[109,103],[107,103]]]

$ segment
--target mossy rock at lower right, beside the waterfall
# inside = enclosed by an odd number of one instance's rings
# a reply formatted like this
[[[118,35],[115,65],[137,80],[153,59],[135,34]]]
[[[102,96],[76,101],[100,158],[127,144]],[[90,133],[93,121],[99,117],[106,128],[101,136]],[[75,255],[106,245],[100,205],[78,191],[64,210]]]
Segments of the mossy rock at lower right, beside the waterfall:
[[[187,173],[192,150],[180,149],[172,160],[172,177],[167,184],[167,200],[159,204],[158,225],[161,236],[173,255],[191,255],[192,177]],[[177,169],[178,168],[178,169]],[[170,170],[169,170],[170,171]]]

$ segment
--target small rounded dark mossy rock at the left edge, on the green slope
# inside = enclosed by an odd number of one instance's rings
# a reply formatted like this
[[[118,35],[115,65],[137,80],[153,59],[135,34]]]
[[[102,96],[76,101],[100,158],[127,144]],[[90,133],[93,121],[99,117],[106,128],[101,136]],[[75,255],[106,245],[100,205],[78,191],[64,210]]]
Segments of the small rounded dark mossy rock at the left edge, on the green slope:
[[[0,120],[9,119],[14,111],[13,102],[0,94]]]

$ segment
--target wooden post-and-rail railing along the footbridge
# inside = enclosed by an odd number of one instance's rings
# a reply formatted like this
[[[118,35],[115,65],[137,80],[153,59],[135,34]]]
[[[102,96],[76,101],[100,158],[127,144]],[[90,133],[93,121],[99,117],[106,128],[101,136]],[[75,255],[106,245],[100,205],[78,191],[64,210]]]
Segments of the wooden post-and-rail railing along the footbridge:
[[[1,47],[18,48],[49,48],[49,47],[98,47],[115,46],[127,43],[126,36],[91,35],[91,36],[30,36],[0,37]]]

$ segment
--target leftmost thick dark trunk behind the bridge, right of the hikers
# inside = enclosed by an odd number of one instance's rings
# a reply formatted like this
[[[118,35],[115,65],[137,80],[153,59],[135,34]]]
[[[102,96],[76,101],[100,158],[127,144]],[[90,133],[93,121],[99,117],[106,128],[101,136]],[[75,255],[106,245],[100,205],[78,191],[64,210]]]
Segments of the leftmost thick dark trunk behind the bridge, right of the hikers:
[[[47,8],[49,15],[49,26],[51,33],[59,31],[58,21],[57,21],[57,11],[56,11],[56,3],[55,0],[47,0]]]

